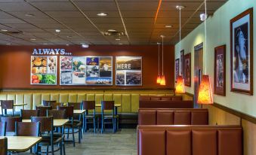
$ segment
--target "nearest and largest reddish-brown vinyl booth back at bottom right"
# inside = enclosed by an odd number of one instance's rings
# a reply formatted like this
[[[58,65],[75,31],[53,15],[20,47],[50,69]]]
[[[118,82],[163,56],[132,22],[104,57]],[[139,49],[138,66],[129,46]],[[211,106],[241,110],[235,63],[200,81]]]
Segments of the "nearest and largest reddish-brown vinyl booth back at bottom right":
[[[138,155],[242,155],[240,126],[138,126]]]

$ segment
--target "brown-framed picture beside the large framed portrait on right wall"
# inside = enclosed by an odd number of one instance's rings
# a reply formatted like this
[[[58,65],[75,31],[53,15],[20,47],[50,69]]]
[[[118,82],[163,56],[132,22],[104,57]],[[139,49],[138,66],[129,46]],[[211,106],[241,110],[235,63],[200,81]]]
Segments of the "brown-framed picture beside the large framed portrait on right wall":
[[[214,94],[226,96],[226,45],[214,48]]]

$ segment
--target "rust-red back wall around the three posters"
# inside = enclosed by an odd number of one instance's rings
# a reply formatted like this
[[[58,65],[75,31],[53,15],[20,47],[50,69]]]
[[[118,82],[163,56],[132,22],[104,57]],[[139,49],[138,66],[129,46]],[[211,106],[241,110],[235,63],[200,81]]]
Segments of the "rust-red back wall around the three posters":
[[[57,69],[57,86],[30,85],[30,56],[34,48],[64,48],[72,52],[72,56],[142,56],[143,86],[116,87],[115,86],[115,57],[113,57],[113,86],[59,86],[59,67]],[[0,87],[5,89],[159,89],[174,88],[174,46],[164,47],[164,72],[166,86],[156,84],[158,74],[157,46],[0,46]],[[58,57],[58,65],[59,65]]]

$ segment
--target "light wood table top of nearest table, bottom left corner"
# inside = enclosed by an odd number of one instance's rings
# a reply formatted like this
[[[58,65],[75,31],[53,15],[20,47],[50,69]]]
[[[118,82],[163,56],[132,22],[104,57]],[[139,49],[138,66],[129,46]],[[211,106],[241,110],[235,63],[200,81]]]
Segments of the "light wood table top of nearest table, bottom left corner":
[[[32,136],[5,136],[8,138],[8,151],[26,152],[35,144],[42,141],[41,137]],[[0,136],[0,138],[4,138]]]

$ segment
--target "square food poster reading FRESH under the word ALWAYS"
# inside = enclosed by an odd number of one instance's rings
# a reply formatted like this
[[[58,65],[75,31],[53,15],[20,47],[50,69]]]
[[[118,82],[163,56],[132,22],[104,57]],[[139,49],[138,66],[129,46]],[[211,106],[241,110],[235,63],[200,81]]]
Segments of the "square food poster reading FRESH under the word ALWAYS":
[[[31,56],[30,84],[57,85],[57,56]]]

